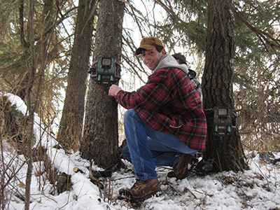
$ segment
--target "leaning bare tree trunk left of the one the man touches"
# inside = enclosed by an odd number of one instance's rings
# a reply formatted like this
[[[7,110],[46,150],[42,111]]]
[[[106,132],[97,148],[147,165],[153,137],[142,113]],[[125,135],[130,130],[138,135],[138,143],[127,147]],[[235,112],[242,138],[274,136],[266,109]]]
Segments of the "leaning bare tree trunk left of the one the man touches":
[[[83,130],[85,109],[85,90],[90,48],[92,45],[95,1],[80,0],[75,38],[68,73],[66,97],[60,120],[57,139],[62,147],[69,151],[78,151]]]

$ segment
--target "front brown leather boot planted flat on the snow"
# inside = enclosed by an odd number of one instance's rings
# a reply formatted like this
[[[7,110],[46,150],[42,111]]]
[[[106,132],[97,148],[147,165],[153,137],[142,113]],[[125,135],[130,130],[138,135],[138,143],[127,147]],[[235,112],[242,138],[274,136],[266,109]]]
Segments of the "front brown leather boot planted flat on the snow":
[[[158,179],[147,179],[145,181],[137,180],[130,189],[120,189],[119,194],[118,199],[125,199],[128,202],[136,203],[142,202],[153,195],[160,196],[162,191]]]

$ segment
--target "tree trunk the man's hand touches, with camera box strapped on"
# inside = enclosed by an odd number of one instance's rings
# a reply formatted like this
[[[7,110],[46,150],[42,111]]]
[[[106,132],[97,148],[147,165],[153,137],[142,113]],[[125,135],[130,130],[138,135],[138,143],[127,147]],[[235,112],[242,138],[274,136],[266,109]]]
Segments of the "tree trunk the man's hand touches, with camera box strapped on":
[[[94,61],[113,57],[120,62],[124,3],[102,0],[95,38]],[[108,96],[109,85],[90,78],[85,111],[85,127],[80,151],[83,158],[93,159],[104,169],[120,166],[118,150],[118,104]]]

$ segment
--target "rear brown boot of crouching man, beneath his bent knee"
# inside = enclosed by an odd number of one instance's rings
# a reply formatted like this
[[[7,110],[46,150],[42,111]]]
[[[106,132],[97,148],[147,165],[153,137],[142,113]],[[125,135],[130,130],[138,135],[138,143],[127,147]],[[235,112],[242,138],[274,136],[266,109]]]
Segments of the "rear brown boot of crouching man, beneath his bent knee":
[[[188,170],[192,165],[193,155],[183,154],[179,162],[173,167],[173,172],[167,174],[168,177],[176,177],[176,179],[185,179]]]

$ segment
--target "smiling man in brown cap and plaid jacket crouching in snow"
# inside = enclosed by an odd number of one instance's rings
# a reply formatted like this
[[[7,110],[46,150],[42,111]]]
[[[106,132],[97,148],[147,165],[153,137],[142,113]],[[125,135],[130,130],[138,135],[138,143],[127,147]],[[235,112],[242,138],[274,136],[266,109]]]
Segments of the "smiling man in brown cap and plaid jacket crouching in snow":
[[[207,137],[202,101],[187,76],[188,67],[182,69],[156,37],[143,38],[136,54],[153,71],[146,85],[134,92],[118,85],[109,89],[109,96],[127,109],[123,156],[137,176],[132,188],[119,193],[131,202],[160,193],[156,166],[171,166],[172,175],[184,179],[193,155],[205,150]]]

